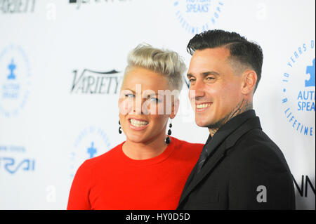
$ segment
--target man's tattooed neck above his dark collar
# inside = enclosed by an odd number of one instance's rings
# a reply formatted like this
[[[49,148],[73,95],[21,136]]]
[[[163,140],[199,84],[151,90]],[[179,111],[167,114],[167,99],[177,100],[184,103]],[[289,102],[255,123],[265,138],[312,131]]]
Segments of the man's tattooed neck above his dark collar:
[[[211,134],[211,137],[213,137],[218,129],[220,129],[220,127],[226,124],[230,119],[248,110],[252,110],[252,101],[242,99],[242,101],[240,101],[236,107],[234,107],[225,117],[223,117],[223,119],[220,119],[218,122],[216,122],[216,124],[213,124],[209,127],[209,133]]]

